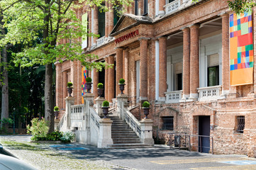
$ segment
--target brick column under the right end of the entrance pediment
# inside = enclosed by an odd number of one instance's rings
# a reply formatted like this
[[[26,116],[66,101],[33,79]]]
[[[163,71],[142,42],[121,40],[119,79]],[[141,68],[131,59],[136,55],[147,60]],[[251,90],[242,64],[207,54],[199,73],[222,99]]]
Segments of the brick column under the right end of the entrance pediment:
[[[140,38],[140,101],[148,100],[148,38]]]

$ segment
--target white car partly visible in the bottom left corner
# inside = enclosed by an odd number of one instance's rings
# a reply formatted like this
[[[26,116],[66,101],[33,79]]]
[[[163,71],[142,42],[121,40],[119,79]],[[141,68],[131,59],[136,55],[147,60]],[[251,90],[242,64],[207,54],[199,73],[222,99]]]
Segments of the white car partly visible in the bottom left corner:
[[[36,170],[35,167],[22,162],[14,157],[0,154],[0,169],[1,170]]]

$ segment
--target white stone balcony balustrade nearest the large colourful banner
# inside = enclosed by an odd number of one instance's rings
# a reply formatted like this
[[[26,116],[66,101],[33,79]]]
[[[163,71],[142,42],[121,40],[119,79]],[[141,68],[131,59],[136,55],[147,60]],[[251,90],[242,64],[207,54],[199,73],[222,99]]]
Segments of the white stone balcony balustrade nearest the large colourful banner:
[[[199,101],[216,100],[221,96],[221,85],[201,87],[199,91]]]

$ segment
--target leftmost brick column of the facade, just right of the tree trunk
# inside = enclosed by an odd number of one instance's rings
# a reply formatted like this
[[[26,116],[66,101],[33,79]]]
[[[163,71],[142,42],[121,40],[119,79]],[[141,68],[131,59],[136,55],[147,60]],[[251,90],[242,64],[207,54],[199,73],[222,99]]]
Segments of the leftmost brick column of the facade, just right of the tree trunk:
[[[60,62],[56,62],[56,106],[59,108],[64,108],[65,105],[63,105],[63,92],[62,92],[62,64]]]

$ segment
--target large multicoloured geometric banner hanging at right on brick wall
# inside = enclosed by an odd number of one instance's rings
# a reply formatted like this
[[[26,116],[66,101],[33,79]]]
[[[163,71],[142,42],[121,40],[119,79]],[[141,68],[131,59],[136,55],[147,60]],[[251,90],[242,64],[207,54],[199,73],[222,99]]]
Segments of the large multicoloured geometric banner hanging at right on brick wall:
[[[231,14],[230,84],[238,86],[253,81],[252,11]]]

